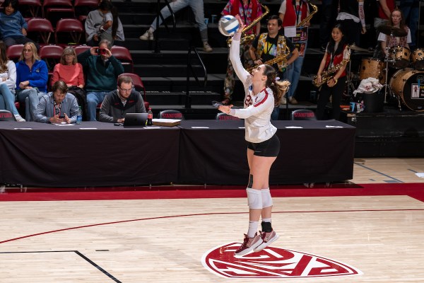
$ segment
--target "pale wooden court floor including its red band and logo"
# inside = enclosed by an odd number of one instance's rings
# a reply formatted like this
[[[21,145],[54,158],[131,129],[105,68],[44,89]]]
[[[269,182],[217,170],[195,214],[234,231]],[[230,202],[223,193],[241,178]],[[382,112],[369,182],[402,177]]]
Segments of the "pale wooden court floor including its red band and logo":
[[[424,282],[423,172],[421,158],[364,158],[348,183],[271,187],[281,237],[237,258],[242,187],[6,190],[0,282]]]

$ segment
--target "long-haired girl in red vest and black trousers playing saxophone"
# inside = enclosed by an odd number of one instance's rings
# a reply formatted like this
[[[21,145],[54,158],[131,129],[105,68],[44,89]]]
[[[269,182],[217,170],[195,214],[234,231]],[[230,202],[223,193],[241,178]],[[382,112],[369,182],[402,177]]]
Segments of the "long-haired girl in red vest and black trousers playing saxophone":
[[[330,96],[333,107],[332,118],[338,120],[338,116],[340,115],[341,96],[346,86],[346,64],[342,62],[346,62],[345,60],[349,58],[349,48],[346,43],[343,29],[341,24],[336,24],[333,30],[331,30],[331,39],[326,47],[324,57],[322,58],[317,73],[317,83],[326,81],[326,83],[322,84],[321,91],[319,92],[316,113],[318,120],[323,119],[324,110]],[[336,66],[340,67],[335,68],[332,72],[329,71]],[[324,74],[323,71],[329,71],[329,75],[326,77],[321,76]]]

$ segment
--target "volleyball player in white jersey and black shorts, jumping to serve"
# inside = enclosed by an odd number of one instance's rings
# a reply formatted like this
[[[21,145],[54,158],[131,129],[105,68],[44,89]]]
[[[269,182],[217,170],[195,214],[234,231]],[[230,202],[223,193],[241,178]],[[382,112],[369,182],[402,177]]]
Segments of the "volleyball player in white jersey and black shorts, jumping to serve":
[[[280,141],[276,127],[271,125],[271,113],[276,103],[288,91],[288,81],[278,81],[276,70],[265,64],[249,74],[240,60],[240,37],[245,24],[239,21],[237,33],[232,37],[230,60],[235,73],[245,87],[243,109],[232,109],[232,105],[220,105],[219,110],[245,119],[245,139],[247,141],[247,161],[249,163],[249,184],[247,201],[249,204],[249,229],[245,239],[235,251],[235,255],[257,252],[278,239],[271,226],[272,198],[269,192],[269,171],[280,151]],[[257,233],[259,218],[261,231]]]

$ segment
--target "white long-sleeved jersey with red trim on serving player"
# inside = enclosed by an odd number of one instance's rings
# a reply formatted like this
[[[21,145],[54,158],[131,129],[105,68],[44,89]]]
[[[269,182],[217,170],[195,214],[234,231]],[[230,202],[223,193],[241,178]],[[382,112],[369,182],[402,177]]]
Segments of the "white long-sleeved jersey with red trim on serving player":
[[[271,139],[277,128],[271,124],[271,113],[274,108],[274,97],[271,88],[264,88],[256,96],[252,91],[252,76],[242,66],[240,60],[240,33],[232,37],[230,60],[240,81],[245,87],[243,109],[231,109],[230,115],[245,119],[245,139],[259,143]]]

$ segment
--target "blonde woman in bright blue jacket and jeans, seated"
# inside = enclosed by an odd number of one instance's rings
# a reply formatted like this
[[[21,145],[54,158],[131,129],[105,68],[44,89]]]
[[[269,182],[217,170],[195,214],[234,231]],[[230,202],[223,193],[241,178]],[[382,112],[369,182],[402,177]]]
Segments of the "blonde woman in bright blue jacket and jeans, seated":
[[[20,103],[25,103],[25,119],[34,121],[39,98],[47,93],[47,65],[37,54],[33,42],[23,45],[19,62],[16,63],[16,95]]]

